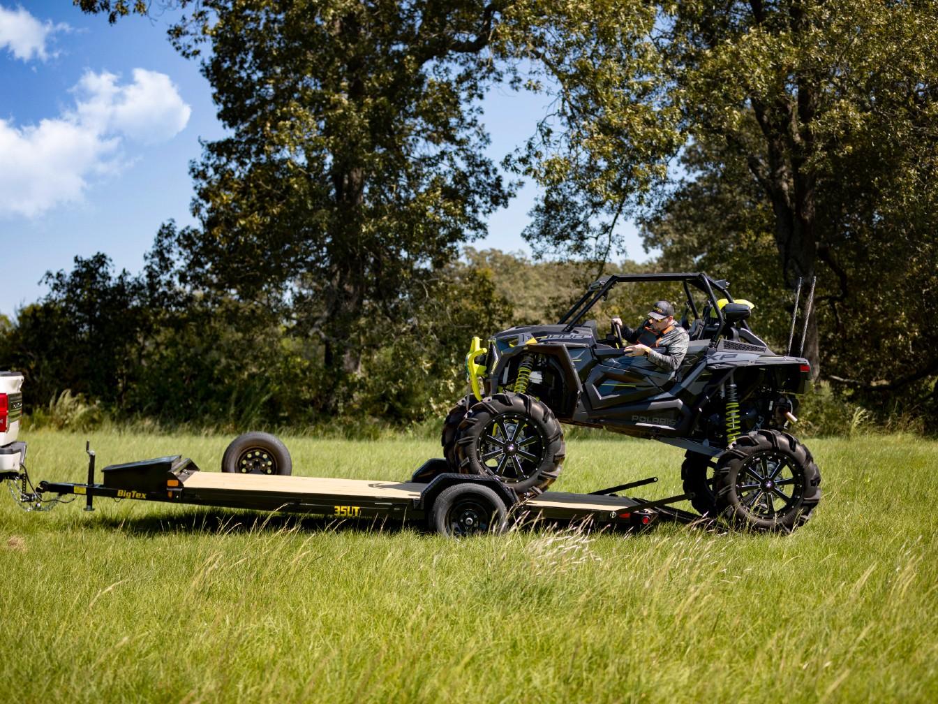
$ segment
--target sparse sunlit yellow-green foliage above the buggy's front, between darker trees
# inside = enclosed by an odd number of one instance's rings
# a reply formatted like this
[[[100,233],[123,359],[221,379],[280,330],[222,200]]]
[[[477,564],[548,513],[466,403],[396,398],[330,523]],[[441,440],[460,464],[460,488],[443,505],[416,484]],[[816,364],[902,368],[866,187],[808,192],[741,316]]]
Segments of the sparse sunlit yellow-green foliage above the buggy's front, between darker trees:
[[[626,253],[624,222],[667,175],[681,114],[655,43],[658,7],[636,0],[528,0],[507,9],[500,48],[552,98],[507,160],[543,193],[524,237],[536,256],[580,260],[594,280]]]

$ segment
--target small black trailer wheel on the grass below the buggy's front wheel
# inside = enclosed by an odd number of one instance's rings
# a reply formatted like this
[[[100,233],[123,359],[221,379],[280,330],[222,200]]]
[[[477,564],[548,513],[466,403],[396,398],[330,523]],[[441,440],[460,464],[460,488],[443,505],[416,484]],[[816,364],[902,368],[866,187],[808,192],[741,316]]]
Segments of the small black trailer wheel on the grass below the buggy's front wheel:
[[[501,533],[507,522],[505,502],[490,487],[480,484],[450,486],[440,492],[431,508],[431,528],[451,538]]]

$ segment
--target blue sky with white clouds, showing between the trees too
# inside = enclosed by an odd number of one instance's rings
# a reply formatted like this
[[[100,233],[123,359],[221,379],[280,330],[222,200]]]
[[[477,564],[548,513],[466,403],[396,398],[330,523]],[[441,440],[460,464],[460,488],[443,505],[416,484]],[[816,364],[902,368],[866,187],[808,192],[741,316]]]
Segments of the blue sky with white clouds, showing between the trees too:
[[[43,296],[42,275],[75,255],[137,272],[160,223],[192,222],[189,161],[223,130],[197,63],[166,38],[170,19],[109,25],[64,0],[0,0],[0,314]],[[545,100],[492,90],[492,159],[531,134]],[[536,195],[525,185],[474,246],[526,253]],[[628,255],[646,259],[627,233]]]

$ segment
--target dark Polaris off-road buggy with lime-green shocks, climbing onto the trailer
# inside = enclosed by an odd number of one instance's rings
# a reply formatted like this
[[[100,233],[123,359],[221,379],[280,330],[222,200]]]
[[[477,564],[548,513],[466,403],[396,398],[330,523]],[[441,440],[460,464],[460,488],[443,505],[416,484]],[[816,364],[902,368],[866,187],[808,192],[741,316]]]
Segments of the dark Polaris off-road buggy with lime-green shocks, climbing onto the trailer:
[[[628,356],[621,330],[613,324],[600,336],[597,321],[586,319],[591,311],[611,319],[607,301],[622,283],[652,284],[656,295],[627,298],[644,306],[676,298],[676,311],[683,298],[675,324],[690,342],[676,373]],[[560,474],[560,423],[605,428],[686,451],[685,495],[677,498],[704,516],[797,528],[821,498],[818,467],[788,432],[810,366],[769,349],[749,328],[751,309],[734,301],[729,283],[703,273],[612,275],[591,283],[556,325],[510,328],[487,346],[474,338],[466,356],[472,392],[444,422],[446,462],[533,496]]]

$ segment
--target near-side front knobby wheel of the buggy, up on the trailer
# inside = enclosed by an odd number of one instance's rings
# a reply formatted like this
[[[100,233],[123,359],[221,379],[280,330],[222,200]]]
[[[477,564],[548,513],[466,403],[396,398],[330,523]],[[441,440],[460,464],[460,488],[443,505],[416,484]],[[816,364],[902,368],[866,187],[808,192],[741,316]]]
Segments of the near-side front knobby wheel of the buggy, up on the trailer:
[[[490,474],[518,494],[543,491],[557,479],[567,450],[551,409],[523,393],[496,393],[462,419],[458,470]]]

